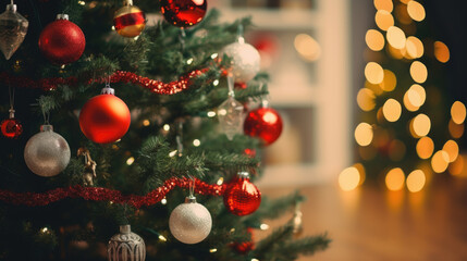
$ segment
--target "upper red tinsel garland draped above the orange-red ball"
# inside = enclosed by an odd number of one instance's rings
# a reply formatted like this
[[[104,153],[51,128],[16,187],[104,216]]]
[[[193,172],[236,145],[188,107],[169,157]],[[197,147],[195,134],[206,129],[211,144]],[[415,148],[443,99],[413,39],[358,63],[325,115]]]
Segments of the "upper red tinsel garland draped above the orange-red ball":
[[[182,90],[189,88],[189,80],[195,76],[199,76],[206,73],[208,70],[195,70],[188,73],[185,76],[181,76],[179,80],[174,80],[171,83],[163,83],[161,80],[150,79],[148,77],[144,77],[137,75],[135,73],[125,72],[125,71],[116,71],[110,76],[111,83],[132,83],[135,85],[139,85],[144,88],[149,89],[150,91],[158,95],[174,95]],[[107,80],[106,77],[90,78],[86,83],[101,83],[103,84]],[[0,82],[7,85],[20,87],[20,88],[40,88],[44,90],[54,90],[59,85],[76,85],[77,77],[70,76],[67,78],[53,77],[53,78],[42,78],[39,80],[34,80],[28,77],[23,76],[12,76],[7,74],[5,72],[0,73]]]

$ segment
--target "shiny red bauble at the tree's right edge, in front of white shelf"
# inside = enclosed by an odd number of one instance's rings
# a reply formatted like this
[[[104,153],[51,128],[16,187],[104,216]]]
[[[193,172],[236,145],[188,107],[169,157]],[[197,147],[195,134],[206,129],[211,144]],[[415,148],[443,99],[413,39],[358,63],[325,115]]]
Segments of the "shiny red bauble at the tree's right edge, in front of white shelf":
[[[246,135],[261,138],[265,145],[270,145],[281,136],[282,119],[274,109],[258,108],[248,113],[243,129]]]

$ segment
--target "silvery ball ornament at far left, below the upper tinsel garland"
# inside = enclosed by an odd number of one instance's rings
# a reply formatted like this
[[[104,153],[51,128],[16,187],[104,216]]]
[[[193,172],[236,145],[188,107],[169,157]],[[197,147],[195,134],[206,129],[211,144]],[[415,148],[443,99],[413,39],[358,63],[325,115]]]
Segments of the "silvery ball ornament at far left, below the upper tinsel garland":
[[[24,148],[27,167],[44,177],[62,172],[70,162],[70,156],[69,144],[53,132],[52,125],[40,126],[40,133],[30,137]]]

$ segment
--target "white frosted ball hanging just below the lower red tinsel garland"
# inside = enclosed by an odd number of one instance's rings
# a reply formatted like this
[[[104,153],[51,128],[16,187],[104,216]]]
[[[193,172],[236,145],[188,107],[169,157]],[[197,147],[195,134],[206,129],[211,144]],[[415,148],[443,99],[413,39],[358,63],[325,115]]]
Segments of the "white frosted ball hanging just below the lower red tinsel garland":
[[[193,196],[187,197],[185,203],[177,206],[170,214],[170,232],[184,244],[202,241],[211,232],[211,214],[205,206],[197,203]]]

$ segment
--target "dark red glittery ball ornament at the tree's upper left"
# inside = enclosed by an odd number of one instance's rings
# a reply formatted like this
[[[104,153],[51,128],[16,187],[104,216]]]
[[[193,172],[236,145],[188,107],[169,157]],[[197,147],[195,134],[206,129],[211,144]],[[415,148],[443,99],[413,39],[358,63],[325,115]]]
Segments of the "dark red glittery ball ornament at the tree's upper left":
[[[58,65],[77,61],[84,52],[86,39],[83,30],[69,21],[67,14],[57,15],[39,36],[39,49],[42,54]]]

